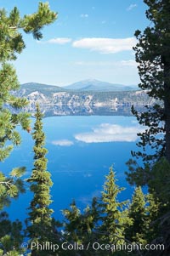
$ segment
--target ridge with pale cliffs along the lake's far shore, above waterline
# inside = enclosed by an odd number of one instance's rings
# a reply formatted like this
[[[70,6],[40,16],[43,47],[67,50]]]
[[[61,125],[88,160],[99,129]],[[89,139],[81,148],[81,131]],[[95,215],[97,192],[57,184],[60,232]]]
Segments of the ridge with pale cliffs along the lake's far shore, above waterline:
[[[26,97],[31,105],[35,105],[37,101],[40,105],[88,105],[94,107],[153,104],[153,100],[148,97],[147,93],[140,90],[80,91],[34,82],[21,85],[17,95]]]

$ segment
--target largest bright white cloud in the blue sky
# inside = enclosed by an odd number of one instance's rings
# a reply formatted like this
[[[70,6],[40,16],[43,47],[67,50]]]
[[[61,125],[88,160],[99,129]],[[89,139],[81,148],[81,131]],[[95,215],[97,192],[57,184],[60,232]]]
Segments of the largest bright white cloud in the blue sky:
[[[74,48],[87,48],[91,51],[98,51],[102,54],[116,54],[122,51],[132,50],[136,44],[134,37],[127,38],[82,38],[74,41]]]

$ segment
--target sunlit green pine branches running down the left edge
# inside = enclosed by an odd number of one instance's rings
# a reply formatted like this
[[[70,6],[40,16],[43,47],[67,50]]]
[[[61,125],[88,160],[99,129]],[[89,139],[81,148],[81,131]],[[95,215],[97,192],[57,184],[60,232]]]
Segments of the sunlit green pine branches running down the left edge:
[[[30,132],[30,115],[22,111],[28,102],[15,95],[20,83],[9,61],[16,60],[17,54],[26,47],[23,32],[31,33],[37,40],[41,39],[42,28],[53,23],[57,14],[49,9],[48,3],[39,3],[34,14],[20,17],[19,9],[14,7],[9,14],[5,9],[0,9],[0,17],[0,162],[3,162],[14,145],[20,145],[17,126]],[[13,174],[9,174],[8,178],[0,172],[0,203],[2,199],[3,202],[8,201],[9,196],[17,196],[23,190],[20,180],[17,181],[18,185],[13,183],[15,177],[23,174],[23,168],[17,168],[17,175]]]

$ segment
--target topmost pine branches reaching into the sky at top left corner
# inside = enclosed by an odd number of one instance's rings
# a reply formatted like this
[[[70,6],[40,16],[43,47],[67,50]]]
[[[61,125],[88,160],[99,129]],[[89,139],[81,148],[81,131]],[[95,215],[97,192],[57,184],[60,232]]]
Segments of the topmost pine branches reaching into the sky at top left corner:
[[[14,7],[10,14],[0,9],[0,61],[16,60],[26,47],[21,31],[31,33],[37,40],[42,38],[42,28],[54,22],[57,14],[49,9],[48,3],[39,3],[37,12],[20,17]]]

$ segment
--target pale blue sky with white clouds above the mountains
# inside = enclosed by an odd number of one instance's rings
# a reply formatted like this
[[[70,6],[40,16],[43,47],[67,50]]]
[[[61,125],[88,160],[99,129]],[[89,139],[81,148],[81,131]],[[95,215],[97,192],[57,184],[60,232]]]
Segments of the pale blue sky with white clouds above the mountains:
[[[46,2],[46,1],[42,1]],[[36,11],[39,1],[2,0],[8,11]],[[137,84],[134,31],[150,24],[142,0],[50,0],[58,19],[41,42],[25,36],[26,49],[14,62],[19,80],[64,86],[85,79]]]

